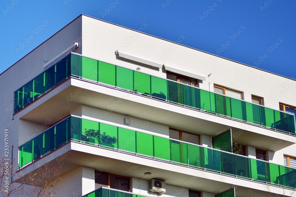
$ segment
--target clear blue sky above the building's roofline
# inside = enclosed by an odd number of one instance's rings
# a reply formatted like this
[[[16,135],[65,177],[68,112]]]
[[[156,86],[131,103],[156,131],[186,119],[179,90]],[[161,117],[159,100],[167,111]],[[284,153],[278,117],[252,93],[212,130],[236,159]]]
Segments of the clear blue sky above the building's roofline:
[[[183,45],[296,78],[295,7],[295,0],[1,0],[0,73],[86,14],[134,30],[146,23],[147,34],[183,36]]]

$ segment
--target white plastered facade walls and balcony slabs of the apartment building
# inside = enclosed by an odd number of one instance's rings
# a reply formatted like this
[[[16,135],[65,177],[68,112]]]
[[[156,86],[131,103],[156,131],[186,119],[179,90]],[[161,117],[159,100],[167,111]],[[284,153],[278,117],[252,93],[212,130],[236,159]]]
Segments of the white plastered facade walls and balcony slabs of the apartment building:
[[[296,106],[295,79],[81,15],[0,75],[0,89],[4,92],[0,125],[2,131],[5,128],[9,130],[12,158],[19,158],[21,145],[68,115],[163,138],[171,138],[169,128],[174,128],[198,134],[199,144],[209,149],[213,148],[213,136],[231,128],[232,141],[245,146],[248,158],[256,159],[256,149],[266,151],[267,162],[278,165],[284,165],[284,155],[291,159],[296,157],[295,135],[83,78],[70,77],[15,112],[14,92],[45,71],[44,60],[50,61],[76,42],[79,46],[75,53],[83,57],[134,71],[140,68],[139,72],[163,79],[167,79],[165,67],[172,67],[180,72],[205,77],[205,81],[197,80],[199,89],[213,92],[215,84],[242,92],[242,100],[249,103],[252,102],[252,95],[262,97],[264,107],[277,111],[280,110],[280,103]],[[164,67],[120,58],[116,50],[163,64]],[[124,124],[124,118],[130,119],[129,125]],[[4,135],[1,135],[1,140],[3,138]],[[63,162],[60,171],[63,180],[57,184],[57,196],[73,196],[73,193],[82,196],[99,188],[95,170],[128,177],[130,192],[143,196],[158,196],[149,192],[149,179],[152,178],[165,181],[166,192],[161,195],[164,197],[188,197],[189,190],[200,191],[204,197],[214,197],[232,187],[235,187],[236,196],[247,196],[249,188],[256,196],[267,196],[268,191],[289,195],[294,191],[292,188],[296,188],[294,185],[283,189],[276,184],[229,175],[219,170],[205,170],[123,152],[120,146],[118,149],[72,140],[22,166],[17,174],[34,172],[44,162],[56,165]],[[17,162],[21,162],[20,159]],[[221,167],[222,164],[220,171]],[[145,172],[151,172],[151,175],[144,176]]]

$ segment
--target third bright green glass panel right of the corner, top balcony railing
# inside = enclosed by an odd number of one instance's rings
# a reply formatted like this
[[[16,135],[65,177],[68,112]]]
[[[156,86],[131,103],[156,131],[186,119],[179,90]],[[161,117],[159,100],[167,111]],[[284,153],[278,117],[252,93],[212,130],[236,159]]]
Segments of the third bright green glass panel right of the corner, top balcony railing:
[[[133,90],[133,71],[116,66],[116,86]]]

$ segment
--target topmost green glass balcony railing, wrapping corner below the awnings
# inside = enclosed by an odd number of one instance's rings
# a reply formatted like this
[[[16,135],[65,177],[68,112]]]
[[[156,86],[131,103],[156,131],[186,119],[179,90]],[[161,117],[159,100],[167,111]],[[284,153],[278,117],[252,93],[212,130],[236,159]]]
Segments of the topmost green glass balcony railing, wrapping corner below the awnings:
[[[295,134],[294,115],[71,53],[15,92],[15,112],[67,77],[91,79],[170,103]]]

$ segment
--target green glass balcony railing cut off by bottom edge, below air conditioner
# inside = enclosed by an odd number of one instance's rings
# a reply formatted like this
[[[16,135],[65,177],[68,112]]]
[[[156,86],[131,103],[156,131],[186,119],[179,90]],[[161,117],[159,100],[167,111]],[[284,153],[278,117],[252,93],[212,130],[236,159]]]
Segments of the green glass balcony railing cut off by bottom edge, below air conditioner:
[[[82,197],[147,197],[126,191],[118,191],[110,188],[99,188]]]

